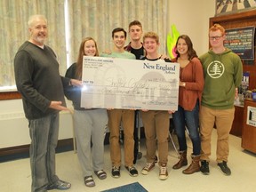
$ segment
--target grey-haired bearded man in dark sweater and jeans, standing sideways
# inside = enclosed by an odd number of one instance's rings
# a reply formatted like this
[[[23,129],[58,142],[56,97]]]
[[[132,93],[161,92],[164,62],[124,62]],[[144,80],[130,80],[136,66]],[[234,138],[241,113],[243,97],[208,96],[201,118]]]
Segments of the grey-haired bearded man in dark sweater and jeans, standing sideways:
[[[29,18],[28,31],[29,40],[20,46],[15,55],[14,71],[31,138],[31,191],[45,192],[53,188],[65,190],[71,184],[60,180],[55,173],[59,112],[68,110],[63,86],[80,86],[82,83],[60,76],[56,55],[44,44],[48,30],[43,15]]]

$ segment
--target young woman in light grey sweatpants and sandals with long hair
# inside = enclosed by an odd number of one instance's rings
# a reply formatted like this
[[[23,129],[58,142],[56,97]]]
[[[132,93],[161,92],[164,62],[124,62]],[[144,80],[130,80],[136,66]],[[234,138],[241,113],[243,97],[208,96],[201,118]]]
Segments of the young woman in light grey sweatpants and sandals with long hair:
[[[82,80],[83,57],[99,56],[95,40],[86,37],[80,44],[78,59],[72,64],[66,76]],[[105,108],[81,108],[81,88],[70,86],[65,90],[68,100],[72,100],[74,106],[74,126],[76,131],[77,156],[81,164],[84,184],[94,187],[92,178],[94,172],[100,180],[107,178],[103,171],[104,166],[104,132],[108,124],[108,115]],[[92,142],[92,153],[91,153]],[[92,159],[92,163],[91,163]]]

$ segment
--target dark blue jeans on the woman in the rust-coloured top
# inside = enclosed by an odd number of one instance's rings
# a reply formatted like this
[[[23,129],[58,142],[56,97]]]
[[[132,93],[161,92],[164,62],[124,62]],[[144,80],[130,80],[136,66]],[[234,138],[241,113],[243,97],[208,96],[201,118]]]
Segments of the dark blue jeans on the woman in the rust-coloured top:
[[[174,129],[176,131],[180,151],[187,150],[187,140],[185,129],[187,126],[189,137],[193,145],[194,156],[199,156],[201,152],[201,140],[199,136],[199,102],[197,100],[195,108],[192,111],[184,110],[178,106],[178,111],[172,114]]]

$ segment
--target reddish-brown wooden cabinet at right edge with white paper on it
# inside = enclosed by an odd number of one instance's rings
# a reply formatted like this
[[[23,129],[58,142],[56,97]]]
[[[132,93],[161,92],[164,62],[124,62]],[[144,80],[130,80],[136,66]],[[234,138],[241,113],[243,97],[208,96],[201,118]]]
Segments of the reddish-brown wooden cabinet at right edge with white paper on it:
[[[252,124],[255,124],[255,126],[246,123],[248,114],[250,117],[249,119],[251,120]],[[242,148],[256,153],[256,102],[252,100],[244,100]]]

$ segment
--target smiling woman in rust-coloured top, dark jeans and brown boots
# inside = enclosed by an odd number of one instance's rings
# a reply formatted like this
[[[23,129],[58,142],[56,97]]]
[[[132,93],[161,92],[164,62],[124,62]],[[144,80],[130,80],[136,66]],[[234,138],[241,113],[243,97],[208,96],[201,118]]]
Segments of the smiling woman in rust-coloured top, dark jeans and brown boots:
[[[177,57],[172,62],[180,63],[179,106],[172,117],[179,141],[180,161],[174,164],[172,168],[180,169],[188,164],[188,146],[185,134],[187,127],[193,145],[193,152],[191,154],[192,163],[187,169],[183,170],[183,173],[192,174],[200,171],[199,108],[204,89],[204,73],[189,36],[182,35],[178,37],[176,53]]]

